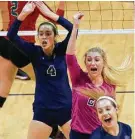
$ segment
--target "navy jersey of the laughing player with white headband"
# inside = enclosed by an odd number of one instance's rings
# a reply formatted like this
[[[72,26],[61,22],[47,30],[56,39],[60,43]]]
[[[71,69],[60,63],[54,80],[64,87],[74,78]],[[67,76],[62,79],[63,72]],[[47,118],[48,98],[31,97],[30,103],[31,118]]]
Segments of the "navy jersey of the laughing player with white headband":
[[[131,139],[132,130],[127,124],[119,122],[119,134],[112,136],[108,134],[101,126],[97,128],[89,139]]]

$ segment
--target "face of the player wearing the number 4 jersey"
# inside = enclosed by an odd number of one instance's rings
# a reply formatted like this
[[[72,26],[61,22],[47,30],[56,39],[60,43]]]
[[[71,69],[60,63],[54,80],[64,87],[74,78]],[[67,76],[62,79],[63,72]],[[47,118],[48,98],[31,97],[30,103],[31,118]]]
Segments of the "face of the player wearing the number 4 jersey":
[[[54,47],[55,35],[50,25],[42,25],[38,32],[39,43],[43,50]]]

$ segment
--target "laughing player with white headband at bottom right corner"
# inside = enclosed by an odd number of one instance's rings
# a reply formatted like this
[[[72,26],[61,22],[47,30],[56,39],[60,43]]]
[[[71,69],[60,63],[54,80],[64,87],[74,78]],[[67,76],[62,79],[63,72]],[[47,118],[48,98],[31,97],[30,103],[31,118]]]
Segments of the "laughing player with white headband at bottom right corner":
[[[96,109],[101,126],[89,139],[131,139],[131,127],[118,122],[118,105],[108,96],[100,97],[96,102]]]

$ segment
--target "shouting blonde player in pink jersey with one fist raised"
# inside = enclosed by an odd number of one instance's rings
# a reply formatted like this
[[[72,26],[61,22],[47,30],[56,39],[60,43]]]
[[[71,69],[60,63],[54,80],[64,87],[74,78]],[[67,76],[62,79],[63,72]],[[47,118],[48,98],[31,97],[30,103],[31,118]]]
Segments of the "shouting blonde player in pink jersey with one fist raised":
[[[89,139],[91,133],[100,126],[95,108],[96,99],[100,95],[115,97],[115,85],[105,79],[104,68],[107,66],[107,60],[101,48],[94,47],[85,53],[87,72],[78,65],[75,45],[82,16],[80,12],[73,18],[73,30],[66,52],[73,97],[70,139]]]

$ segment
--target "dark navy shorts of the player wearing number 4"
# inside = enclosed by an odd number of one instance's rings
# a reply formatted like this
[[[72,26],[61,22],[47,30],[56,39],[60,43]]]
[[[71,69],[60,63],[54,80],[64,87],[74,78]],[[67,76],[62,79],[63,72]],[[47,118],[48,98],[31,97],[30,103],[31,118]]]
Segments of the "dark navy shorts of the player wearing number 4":
[[[33,120],[43,122],[51,127],[62,126],[71,119],[71,109],[46,110],[33,108]]]

